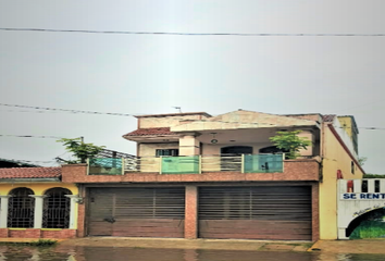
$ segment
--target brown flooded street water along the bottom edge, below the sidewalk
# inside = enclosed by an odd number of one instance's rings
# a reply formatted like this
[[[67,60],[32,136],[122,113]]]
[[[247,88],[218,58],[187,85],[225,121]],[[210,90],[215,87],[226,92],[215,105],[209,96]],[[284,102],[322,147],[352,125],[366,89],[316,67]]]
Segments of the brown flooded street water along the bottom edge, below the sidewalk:
[[[383,254],[157,249],[126,247],[0,246],[1,261],[383,261]]]

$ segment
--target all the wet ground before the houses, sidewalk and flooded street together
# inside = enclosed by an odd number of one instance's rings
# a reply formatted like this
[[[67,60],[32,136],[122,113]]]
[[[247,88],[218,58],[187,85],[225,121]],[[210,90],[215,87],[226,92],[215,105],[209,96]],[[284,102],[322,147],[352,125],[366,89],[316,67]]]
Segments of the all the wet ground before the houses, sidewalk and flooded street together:
[[[0,245],[0,261],[383,261],[385,240],[258,241],[77,238],[52,247]]]

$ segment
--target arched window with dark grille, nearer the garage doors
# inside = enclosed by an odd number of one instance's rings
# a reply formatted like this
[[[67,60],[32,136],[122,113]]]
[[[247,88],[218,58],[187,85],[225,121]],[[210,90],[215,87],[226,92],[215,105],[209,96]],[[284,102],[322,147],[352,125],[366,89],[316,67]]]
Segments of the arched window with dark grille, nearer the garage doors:
[[[66,188],[48,189],[44,199],[42,227],[69,228],[71,199],[65,195],[72,195]]]

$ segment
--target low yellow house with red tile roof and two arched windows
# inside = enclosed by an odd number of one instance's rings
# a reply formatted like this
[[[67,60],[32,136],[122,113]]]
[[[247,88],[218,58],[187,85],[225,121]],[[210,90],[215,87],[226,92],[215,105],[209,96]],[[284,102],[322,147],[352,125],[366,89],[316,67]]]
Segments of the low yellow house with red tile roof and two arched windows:
[[[76,237],[77,187],[61,167],[0,169],[1,238]]]

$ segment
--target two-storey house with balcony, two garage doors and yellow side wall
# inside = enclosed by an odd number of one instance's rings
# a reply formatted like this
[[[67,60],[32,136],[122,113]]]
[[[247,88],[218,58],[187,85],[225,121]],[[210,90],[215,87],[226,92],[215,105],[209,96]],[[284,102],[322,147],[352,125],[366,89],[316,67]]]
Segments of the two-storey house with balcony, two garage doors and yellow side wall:
[[[337,238],[337,179],[363,175],[352,116],[136,117],[137,129],[123,135],[136,157],[62,166],[63,183],[77,184],[84,199],[79,237]],[[295,129],[311,146],[288,160],[269,138]]]

